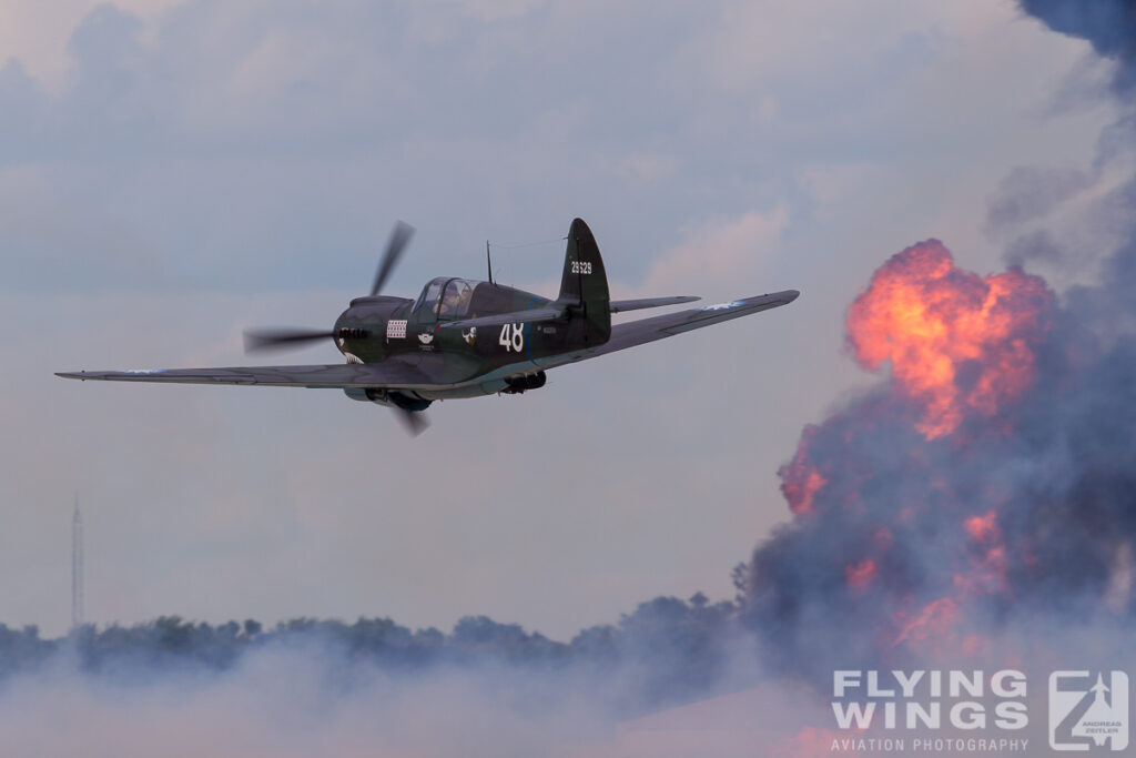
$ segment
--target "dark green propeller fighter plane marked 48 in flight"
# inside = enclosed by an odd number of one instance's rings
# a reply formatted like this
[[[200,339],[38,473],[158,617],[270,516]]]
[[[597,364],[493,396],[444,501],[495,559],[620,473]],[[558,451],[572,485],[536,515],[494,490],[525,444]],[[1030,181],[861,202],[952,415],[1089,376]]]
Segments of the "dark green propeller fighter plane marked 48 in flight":
[[[67,372],[65,378],[178,384],[251,384],[339,389],[400,411],[408,428],[425,427],[434,400],[521,393],[544,385],[549,368],[784,306],[785,290],[612,326],[611,314],[698,300],[692,297],[610,300],[592,231],[579,218],[568,231],[560,294],[548,300],[492,281],[432,280],[417,300],[381,295],[414,230],[400,223],[387,243],[370,294],[356,298],[331,331],[245,333],[249,351],[331,339],[346,364],[125,372]]]

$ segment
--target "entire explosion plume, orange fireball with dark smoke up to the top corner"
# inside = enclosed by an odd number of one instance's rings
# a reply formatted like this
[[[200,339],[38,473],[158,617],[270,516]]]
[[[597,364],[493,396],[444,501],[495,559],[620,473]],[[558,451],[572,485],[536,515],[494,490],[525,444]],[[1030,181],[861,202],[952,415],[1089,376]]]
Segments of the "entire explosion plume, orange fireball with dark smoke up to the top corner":
[[[1136,84],[1136,3],[1022,0],[1084,36]],[[1131,144],[1131,109],[1114,127]],[[1104,143],[1105,165],[1125,145]],[[1044,217],[1089,186],[1076,170],[1019,169],[988,223]],[[886,381],[801,438],[782,469],[792,523],[754,552],[750,626],[779,663],[834,666],[980,659],[1000,636],[1131,630],[1136,547],[1136,182],[1084,224],[1100,282],[1058,297],[1011,267],[979,276],[929,240],[895,255],[847,315],[847,348]],[[1091,259],[1044,233],[1011,263]],[[1029,630],[1028,633],[1024,630]],[[1116,638],[1119,639],[1119,638]],[[1109,647],[1109,645],[1105,645]],[[1114,648],[1117,649],[1117,648]],[[1119,663],[1119,661],[1117,661]]]

